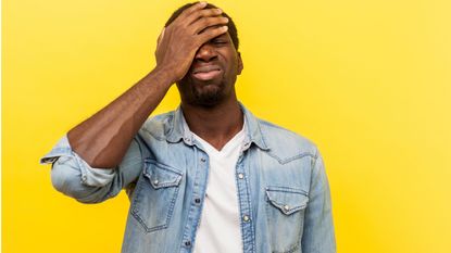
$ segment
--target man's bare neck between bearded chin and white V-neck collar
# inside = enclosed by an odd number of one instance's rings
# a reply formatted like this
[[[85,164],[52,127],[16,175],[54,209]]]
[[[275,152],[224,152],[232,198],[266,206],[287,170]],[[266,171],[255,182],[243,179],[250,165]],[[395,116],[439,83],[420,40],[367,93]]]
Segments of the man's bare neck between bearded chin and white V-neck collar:
[[[242,129],[243,115],[237,100],[211,107],[181,102],[189,129],[217,150]]]

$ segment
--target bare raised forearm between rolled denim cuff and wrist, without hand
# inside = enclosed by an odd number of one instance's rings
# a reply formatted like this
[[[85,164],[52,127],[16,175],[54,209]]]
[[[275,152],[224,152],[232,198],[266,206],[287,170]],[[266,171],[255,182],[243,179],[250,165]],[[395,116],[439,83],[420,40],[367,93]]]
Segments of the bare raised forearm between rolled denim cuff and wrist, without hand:
[[[67,132],[72,149],[90,166],[121,163],[134,136],[162,101],[173,80],[154,69],[108,106]]]

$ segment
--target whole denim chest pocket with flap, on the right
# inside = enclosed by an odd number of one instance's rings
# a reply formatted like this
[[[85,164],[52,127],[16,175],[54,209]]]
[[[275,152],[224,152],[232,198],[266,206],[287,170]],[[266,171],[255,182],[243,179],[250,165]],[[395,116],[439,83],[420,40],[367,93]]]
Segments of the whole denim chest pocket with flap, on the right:
[[[267,187],[266,200],[272,252],[300,252],[308,193],[288,187]]]

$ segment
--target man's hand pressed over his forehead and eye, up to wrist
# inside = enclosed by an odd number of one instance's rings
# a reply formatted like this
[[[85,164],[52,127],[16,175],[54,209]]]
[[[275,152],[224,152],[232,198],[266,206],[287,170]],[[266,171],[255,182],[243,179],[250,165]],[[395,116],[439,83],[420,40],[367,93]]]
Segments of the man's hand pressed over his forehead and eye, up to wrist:
[[[199,2],[185,10],[158,39],[156,68],[166,72],[173,83],[186,75],[203,43],[227,31],[228,18],[221,16],[222,11],[205,7],[206,2]]]

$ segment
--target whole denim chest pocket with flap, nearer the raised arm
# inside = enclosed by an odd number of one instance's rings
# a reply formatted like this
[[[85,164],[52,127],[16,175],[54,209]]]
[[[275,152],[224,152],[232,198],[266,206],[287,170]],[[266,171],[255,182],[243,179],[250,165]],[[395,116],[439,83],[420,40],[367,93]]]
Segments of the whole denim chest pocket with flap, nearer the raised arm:
[[[154,160],[146,160],[135,189],[131,214],[147,232],[167,228],[174,213],[183,173]]]

